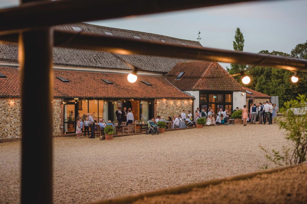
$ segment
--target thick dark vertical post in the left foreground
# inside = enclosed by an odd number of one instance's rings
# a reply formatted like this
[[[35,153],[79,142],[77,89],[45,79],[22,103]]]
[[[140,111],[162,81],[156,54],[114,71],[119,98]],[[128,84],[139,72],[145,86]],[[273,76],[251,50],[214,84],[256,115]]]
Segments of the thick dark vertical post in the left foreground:
[[[19,36],[23,204],[52,204],[52,45],[51,28]]]

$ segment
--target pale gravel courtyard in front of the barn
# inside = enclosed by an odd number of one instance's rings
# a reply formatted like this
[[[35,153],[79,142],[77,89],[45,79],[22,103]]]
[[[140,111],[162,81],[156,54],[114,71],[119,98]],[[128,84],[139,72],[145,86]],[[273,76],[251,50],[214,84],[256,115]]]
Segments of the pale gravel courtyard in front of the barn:
[[[289,144],[277,124],[53,142],[54,203],[89,202],[257,171],[268,164],[259,145],[281,150]],[[0,203],[19,203],[20,145],[0,144]]]

